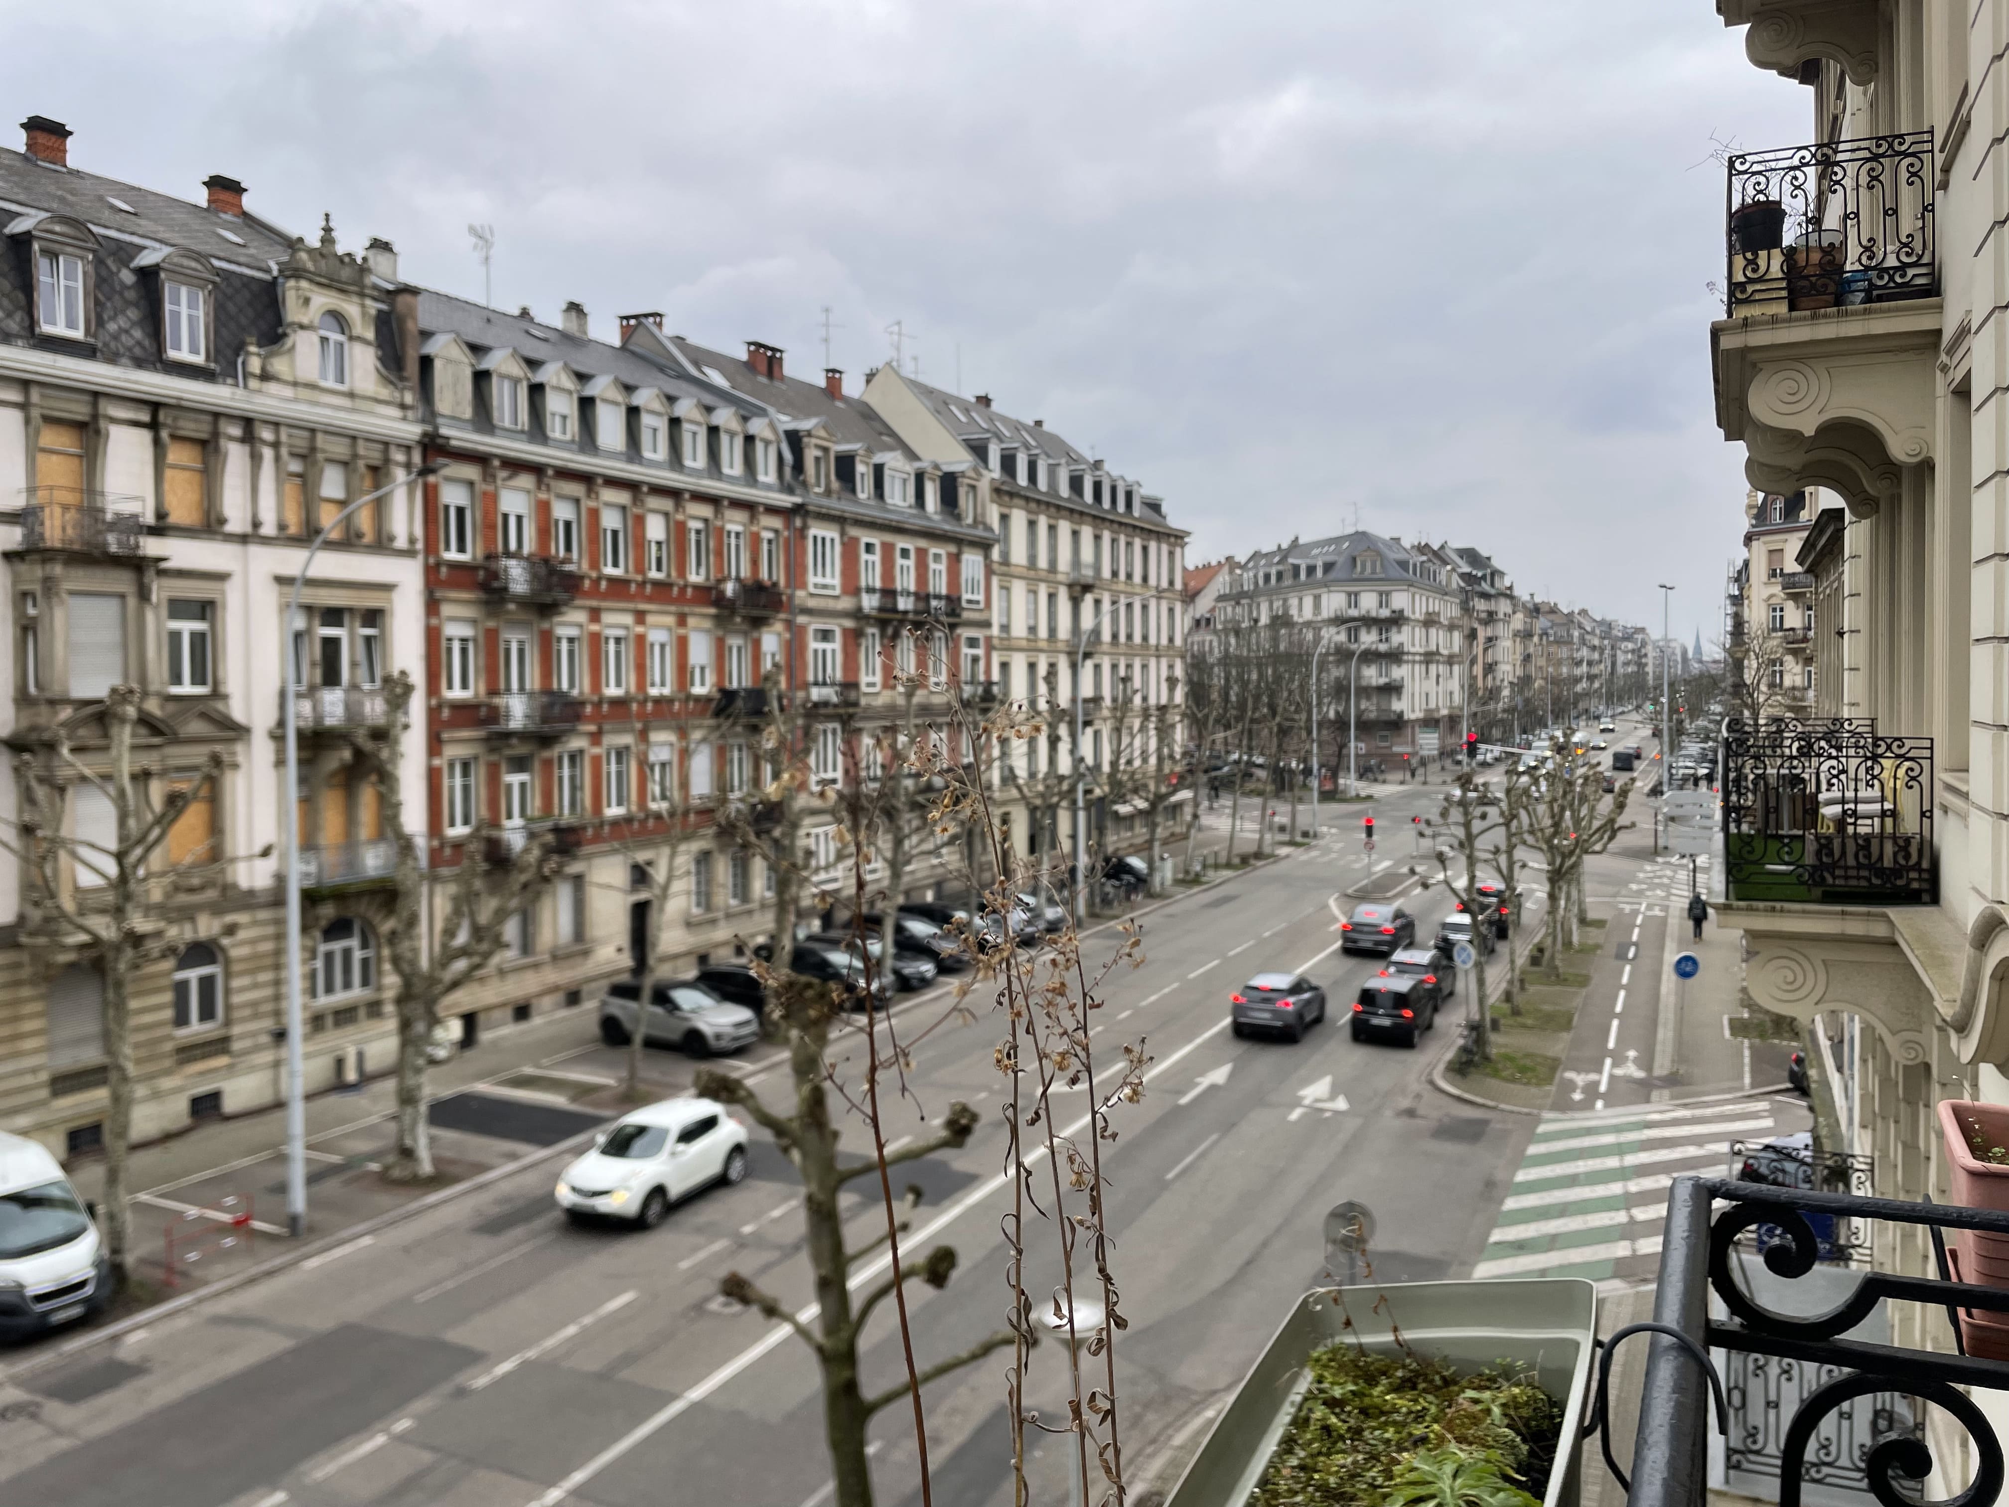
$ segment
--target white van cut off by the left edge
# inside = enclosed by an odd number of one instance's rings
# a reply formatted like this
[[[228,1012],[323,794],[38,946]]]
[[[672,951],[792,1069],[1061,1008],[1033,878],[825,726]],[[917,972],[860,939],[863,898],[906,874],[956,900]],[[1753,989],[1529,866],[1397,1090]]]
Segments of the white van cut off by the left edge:
[[[0,1338],[26,1338],[113,1300],[90,1210],[40,1141],[0,1131]]]

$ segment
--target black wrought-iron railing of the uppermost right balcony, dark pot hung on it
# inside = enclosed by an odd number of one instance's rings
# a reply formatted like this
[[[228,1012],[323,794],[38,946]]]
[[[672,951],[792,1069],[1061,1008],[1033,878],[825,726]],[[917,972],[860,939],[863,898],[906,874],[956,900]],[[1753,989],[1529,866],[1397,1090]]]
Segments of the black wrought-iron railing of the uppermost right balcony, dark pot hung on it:
[[[1933,297],[1933,171],[1931,131],[1732,153],[1726,313]]]

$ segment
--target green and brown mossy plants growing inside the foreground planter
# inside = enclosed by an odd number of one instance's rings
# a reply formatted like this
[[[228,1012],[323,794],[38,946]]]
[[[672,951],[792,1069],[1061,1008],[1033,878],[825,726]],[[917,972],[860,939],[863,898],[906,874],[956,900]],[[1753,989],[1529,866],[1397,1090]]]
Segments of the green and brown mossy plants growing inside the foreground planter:
[[[1308,1366],[1310,1386],[1250,1507],[1382,1507],[1396,1491],[1434,1503],[1442,1493],[1428,1477],[1471,1485],[1453,1495],[1489,1507],[1541,1501],[1563,1409],[1531,1376],[1463,1376],[1442,1360],[1350,1340],[1314,1350]]]

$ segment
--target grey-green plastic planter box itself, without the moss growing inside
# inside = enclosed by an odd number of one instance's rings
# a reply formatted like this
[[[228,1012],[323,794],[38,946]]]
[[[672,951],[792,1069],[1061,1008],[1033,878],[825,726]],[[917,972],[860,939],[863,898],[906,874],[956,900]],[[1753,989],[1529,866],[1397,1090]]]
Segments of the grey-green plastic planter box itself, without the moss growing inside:
[[[1334,1292],[1308,1292],[1290,1310],[1165,1507],[1244,1507],[1298,1411],[1312,1350],[1356,1336],[1370,1350],[1392,1352],[1390,1318],[1412,1350],[1450,1360],[1461,1370],[1501,1360],[1533,1370],[1549,1396],[1563,1403],[1563,1443],[1543,1507],[1567,1507],[1577,1499],[1577,1435],[1597,1334],[1595,1282],[1555,1276],[1338,1288],[1344,1310],[1332,1302]],[[1374,1312],[1382,1298],[1382,1310]],[[1354,1320],[1350,1332],[1346,1314]]]

